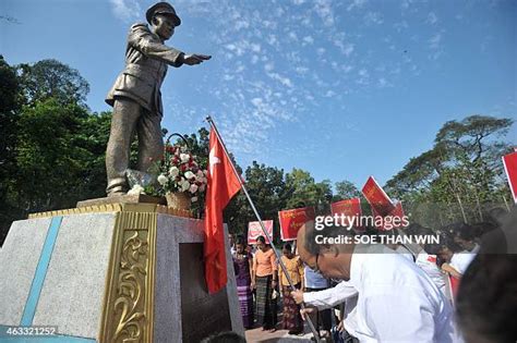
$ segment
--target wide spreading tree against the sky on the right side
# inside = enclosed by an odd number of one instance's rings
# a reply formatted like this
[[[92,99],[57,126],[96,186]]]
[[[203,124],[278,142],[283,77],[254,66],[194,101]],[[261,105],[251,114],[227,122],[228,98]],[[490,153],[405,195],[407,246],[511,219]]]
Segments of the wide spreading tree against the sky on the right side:
[[[429,226],[485,219],[494,206],[510,198],[501,156],[508,152],[504,137],[510,119],[470,115],[446,122],[434,147],[411,158],[386,183],[402,199],[411,219]]]

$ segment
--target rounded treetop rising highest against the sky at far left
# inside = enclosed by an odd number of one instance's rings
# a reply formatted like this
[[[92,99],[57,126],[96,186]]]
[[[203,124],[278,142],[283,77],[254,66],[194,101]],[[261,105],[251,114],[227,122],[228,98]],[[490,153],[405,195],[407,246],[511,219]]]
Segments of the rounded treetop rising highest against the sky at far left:
[[[89,85],[77,70],[57,60],[17,65],[20,83],[28,105],[53,98],[60,105],[85,107]]]

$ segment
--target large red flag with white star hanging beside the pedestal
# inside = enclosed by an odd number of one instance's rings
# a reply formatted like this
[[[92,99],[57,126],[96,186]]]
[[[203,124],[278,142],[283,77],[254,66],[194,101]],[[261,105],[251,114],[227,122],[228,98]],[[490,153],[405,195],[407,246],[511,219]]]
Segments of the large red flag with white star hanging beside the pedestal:
[[[208,292],[213,294],[223,289],[227,282],[223,210],[239,192],[241,184],[214,128],[211,130],[209,151],[204,257],[206,284]]]

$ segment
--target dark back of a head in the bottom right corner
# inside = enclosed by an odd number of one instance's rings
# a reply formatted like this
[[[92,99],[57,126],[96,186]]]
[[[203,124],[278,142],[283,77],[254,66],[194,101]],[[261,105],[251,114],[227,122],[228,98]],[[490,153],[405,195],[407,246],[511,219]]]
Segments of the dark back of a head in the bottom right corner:
[[[456,310],[467,342],[516,342],[517,255],[478,254],[461,278]]]

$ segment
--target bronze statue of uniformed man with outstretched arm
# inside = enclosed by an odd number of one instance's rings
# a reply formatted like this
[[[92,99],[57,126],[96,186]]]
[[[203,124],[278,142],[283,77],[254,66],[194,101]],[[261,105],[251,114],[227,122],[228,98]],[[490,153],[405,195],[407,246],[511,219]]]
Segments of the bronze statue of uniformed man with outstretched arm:
[[[175,27],[181,24],[168,2],[151,7],[145,17],[151,28],[144,23],[131,26],[125,69],[106,98],[106,102],[113,107],[106,150],[108,196],[122,195],[128,191],[125,170],[129,168],[130,146],[135,131],[139,136],[137,170],[147,171],[163,156],[160,86],[167,65],[195,65],[211,59],[204,54],[185,54],[164,45],[175,34]]]

